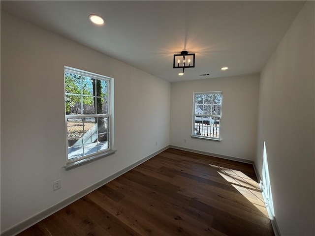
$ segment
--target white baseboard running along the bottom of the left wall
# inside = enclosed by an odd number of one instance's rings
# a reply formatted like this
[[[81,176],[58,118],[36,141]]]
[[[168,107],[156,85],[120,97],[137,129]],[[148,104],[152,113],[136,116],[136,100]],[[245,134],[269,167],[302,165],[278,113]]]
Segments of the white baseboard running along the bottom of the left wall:
[[[82,191],[70,196],[69,198],[64,199],[63,201],[57,203],[56,205],[47,208],[46,210],[43,210],[41,212],[39,212],[38,214],[30,217],[29,219],[17,224],[16,226],[13,226],[12,228],[4,231],[1,233],[1,236],[13,236],[13,235],[17,235],[19,233],[21,233],[22,231],[28,229],[29,227],[31,227],[32,225],[38,223],[39,221],[47,218],[48,216],[54,214],[55,212],[57,212],[58,210],[62,209],[63,207],[66,207],[68,205],[70,205],[71,203],[77,201],[78,199],[84,197],[85,195],[93,192],[95,189],[103,186],[104,184],[110,182],[111,180],[120,177],[121,175],[125,174],[126,172],[130,171],[131,169],[135,168],[136,166],[142,164],[143,162],[151,159],[152,157],[158,155],[158,153],[166,150],[167,148],[169,148],[169,146],[166,146],[164,148],[159,149],[158,151],[142,158],[139,161],[136,161],[135,163],[127,166],[126,168],[116,172],[115,174],[104,178],[103,180],[100,180],[99,182],[91,185],[90,187],[83,189]]]

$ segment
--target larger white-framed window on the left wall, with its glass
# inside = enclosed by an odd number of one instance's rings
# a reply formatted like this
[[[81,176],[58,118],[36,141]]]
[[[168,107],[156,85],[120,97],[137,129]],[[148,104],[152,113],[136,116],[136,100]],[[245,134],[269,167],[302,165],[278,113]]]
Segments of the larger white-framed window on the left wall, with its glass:
[[[64,67],[67,164],[111,150],[111,83],[112,78]]]

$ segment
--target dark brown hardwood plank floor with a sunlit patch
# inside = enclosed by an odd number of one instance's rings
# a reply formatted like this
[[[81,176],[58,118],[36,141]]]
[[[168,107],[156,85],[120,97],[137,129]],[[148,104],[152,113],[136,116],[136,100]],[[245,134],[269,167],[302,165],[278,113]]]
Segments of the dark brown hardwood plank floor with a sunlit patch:
[[[274,236],[252,165],[169,148],[20,236]]]

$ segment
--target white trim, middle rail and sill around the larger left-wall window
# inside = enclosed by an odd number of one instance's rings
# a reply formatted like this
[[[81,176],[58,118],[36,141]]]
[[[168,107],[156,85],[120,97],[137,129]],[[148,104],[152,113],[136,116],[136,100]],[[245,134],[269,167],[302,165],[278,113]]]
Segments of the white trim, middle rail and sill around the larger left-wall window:
[[[74,158],[74,159],[68,159],[68,154],[66,154],[66,165],[64,166],[65,170],[70,170],[75,167],[81,166],[83,164],[89,163],[91,161],[94,161],[96,159],[112,155],[116,152],[116,150],[113,149],[114,146],[114,78],[95,74],[93,72],[87,72],[80,69],[72,68],[69,66],[64,66],[63,75],[65,72],[73,73],[73,74],[80,74],[87,77],[92,77],[94,79],[98,80],[104,80],[106,79],[108,82],[108,93],[109,96],[107,97],[107,103],[109,104],[107,114],[87,114],[87,115],[65,115],[65,142],[67,144],[68,137],[67,137],[67,119],[68,118],[84,118],[84,117],[108,117],[108,148],[97,151],[95,153],[85,155],[80,158]],[[63,92],[65,95],[65,92]],[[65,106],[65,103],[64,103]],[[65,111],[65,108],[64,108]],[[66,145],[66,153],[68,153],[68,145]]]

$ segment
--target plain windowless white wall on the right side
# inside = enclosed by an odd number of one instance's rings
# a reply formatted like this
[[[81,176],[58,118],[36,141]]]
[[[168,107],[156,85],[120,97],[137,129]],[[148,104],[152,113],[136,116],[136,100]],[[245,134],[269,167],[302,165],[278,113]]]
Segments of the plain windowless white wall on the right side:
[[[260,77],[257,157],[263,143],[275,218],[283,236],[315,235],[314,1],[308,1]]]

